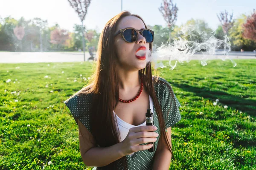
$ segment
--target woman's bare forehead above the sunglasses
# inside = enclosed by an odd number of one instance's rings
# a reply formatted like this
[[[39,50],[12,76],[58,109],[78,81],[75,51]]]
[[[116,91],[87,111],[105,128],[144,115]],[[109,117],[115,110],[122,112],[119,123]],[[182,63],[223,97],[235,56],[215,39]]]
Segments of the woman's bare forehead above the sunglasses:
[[[128,27],[133,27],[137,30],[140,30],[142,28],[145,28],[145,25],[143,21],[140,20],[140,18],[138,17],[126,16],[119,21],[119,24],[117,25],[116,30],[128,28]]]

